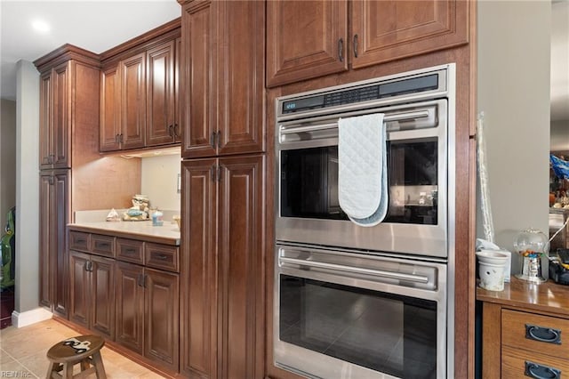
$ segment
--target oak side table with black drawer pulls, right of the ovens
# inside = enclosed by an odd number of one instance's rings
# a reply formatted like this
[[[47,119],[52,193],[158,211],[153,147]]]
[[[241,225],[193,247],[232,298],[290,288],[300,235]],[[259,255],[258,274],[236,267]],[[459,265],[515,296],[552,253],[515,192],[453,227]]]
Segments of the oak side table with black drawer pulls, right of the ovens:
[[[512,277],[501,292],[477,287],[477,300],[483,302],[482,377],[569,373],[569,286]]]

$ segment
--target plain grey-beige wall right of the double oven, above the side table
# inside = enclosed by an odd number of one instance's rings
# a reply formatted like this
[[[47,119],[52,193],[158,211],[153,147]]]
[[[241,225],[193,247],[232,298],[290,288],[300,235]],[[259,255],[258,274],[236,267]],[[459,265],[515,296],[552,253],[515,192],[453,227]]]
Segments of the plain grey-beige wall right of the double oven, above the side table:
[[[519,230],[549,230],[551,3],[479,1],[477,13],[477,109],[485,112],[494,240],[513,250]],[[478,238],[481,222],[478,212]]]

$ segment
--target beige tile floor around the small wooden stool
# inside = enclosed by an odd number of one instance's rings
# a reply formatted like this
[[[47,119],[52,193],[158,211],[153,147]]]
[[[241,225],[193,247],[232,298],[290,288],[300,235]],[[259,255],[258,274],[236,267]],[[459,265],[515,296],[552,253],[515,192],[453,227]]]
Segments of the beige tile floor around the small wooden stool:
[[[44,378],[49,361],[47,351],[55,343],[78,333],[49,319],[28,327],[0,330],[0,377]],[[157,379],[164,376],[142,367],[104,346],[101,350],[109,379]],[[76,365],[79,369],[79,365]],[[94,374],[92,375],[95,376]]]

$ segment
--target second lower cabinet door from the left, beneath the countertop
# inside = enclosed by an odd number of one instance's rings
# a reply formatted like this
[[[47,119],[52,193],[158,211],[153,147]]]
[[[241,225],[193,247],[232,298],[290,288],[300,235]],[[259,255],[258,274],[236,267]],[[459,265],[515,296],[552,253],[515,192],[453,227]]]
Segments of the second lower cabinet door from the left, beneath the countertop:
[[[91,256],[90,328],[115,339],[115,260]]]

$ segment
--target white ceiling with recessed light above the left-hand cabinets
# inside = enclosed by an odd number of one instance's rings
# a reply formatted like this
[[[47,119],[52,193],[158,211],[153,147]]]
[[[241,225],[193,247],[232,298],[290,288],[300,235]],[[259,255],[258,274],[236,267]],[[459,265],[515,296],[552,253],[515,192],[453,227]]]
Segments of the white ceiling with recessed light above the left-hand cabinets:
[[[16,62],[34,61],[62,44],[105,52],[181,15],[176,0],[0,0],[0,97],[16,100]],[[39,33],[32,22],[51,30]]]

